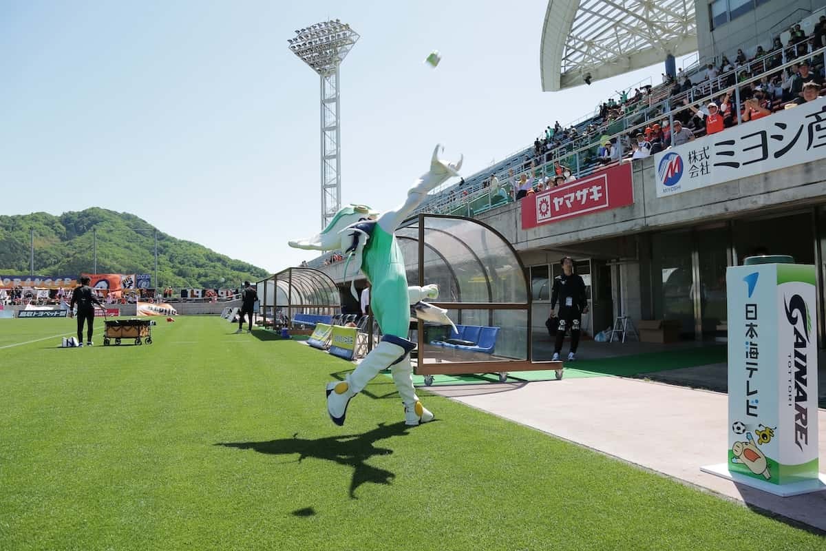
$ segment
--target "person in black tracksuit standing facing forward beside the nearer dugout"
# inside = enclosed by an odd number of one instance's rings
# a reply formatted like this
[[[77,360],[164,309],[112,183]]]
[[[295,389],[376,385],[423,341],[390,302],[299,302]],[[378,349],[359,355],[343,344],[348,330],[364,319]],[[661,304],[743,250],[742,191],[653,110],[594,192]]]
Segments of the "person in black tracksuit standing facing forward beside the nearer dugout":
[[[585,294],[585,282],[576,273],[573,273],[573,260],[566,256],[560,262],[563,266],[563,274],[553,279],[553,291],[551,292],[551,316],[559,317],[559,328],[557,330],[557,342],[553,349],[553,359],[559,359],[562,352],[565,332],[571,330],[571,351],[568,353],[568,360],[577,359],[577,346],[579,345],[579,327],[582,323],[582,314],[588,311],[588,299]],[[559,311],[553,313],[554,307],[559,304]]]

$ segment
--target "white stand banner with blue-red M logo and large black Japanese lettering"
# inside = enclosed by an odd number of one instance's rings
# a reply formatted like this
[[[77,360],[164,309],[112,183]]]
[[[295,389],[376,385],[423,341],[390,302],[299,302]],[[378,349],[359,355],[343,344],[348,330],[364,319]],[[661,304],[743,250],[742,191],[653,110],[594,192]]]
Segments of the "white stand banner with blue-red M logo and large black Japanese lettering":
[[[826,157],[826,98],[654,155],[657,197]]]

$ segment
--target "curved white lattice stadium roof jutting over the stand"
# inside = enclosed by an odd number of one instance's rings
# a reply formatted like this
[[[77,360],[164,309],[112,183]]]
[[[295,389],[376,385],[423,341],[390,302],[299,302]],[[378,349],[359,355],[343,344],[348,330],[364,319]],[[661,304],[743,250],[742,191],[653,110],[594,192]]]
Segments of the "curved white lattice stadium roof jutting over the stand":
[[[697,50],[694,0],[549,0],[539,64],[553,92]]]

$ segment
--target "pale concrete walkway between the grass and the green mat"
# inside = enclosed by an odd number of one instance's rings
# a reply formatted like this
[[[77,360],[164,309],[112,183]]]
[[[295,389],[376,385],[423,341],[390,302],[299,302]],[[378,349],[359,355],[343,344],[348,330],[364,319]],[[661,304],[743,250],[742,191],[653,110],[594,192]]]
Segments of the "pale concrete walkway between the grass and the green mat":
[[[782,498],[700,472],[701,466],[726,461],[725,394],[614,377],[428,390],[826,530],[826,492]],[[819,449],[823,473],[824,410],[819,410]]]

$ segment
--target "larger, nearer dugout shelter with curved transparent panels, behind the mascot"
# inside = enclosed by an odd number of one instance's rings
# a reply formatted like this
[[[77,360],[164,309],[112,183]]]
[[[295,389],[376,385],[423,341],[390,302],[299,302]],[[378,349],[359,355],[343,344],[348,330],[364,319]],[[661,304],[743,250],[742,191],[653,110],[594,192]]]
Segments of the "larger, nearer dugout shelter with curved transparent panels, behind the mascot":
[[[525,266],[498,231],[465,216],[422,213],[402,222],[396,240],[409,283],[438,284],[438,302],[432,304],[447,309],[456,325],[496,332],[495,346],[480,352],[444,345],[445,332],[453,335],[449,325],[411,323],[418,342],[414,373],[425,376],[425,385],[434,375],[498,373],[505,382],[510,372],[548,369],[563,377],[562,362],[533,361]]]

